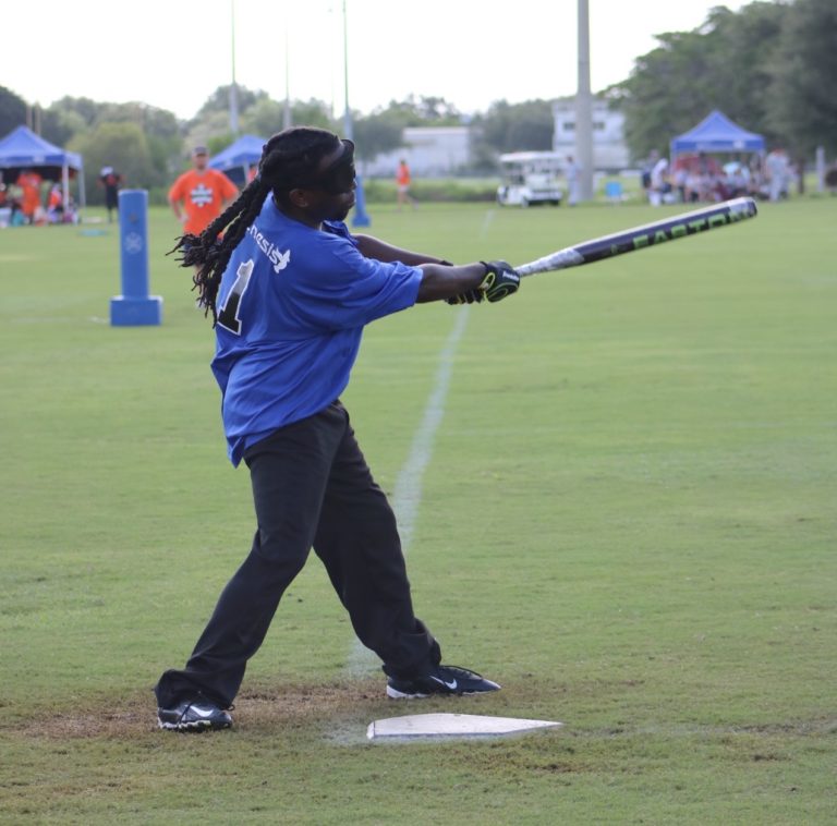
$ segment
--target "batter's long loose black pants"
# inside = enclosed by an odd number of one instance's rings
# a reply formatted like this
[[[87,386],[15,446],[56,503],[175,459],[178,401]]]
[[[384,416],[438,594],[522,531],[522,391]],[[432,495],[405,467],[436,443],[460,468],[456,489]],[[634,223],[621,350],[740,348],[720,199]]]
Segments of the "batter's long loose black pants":
[[[166,671],[157,683],[159,705],[194,694],[231,705],[312,546],[357,637],[381,658],[385,672],[409,678],[438,664],[439,646],[413,614],[395,514],[342,404],[280,428],[244,461],[258,523],[253,548],[221,592],[185,669]]]

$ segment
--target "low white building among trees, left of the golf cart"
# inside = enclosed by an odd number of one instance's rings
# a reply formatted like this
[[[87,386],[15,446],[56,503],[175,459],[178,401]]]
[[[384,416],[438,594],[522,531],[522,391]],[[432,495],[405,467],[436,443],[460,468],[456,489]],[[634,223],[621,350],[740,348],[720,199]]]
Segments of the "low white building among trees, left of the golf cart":
[[[471,159],[468,126],[408,126],[402,146],[364,162],[362,172],[371,178],[395,178],[403,158],[416,178],[450,175]]]

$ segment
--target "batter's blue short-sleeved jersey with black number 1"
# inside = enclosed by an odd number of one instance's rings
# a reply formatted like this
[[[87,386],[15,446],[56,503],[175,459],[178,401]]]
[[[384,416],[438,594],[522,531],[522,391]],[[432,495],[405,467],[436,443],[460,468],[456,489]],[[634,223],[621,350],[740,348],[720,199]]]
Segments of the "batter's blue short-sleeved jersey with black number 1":
[[[269,196],[233,251],[216,302],[211,366],[232,463],[335,401],[364,325],[412,306],[421,281],[415,267],[364,257],[344,223],[313,229]]]

